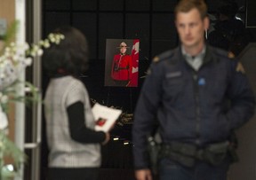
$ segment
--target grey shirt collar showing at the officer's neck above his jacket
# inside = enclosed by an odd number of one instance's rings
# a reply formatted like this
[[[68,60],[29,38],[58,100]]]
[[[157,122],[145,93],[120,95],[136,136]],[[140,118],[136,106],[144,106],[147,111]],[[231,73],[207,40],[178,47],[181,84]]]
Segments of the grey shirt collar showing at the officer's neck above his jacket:
[[[186,59],[186,61],[188,62],[188,64],[193,67],[196,71],[198,71],[198,69],[202,66],[203,61],[204,61],[204,56],[205,56],[205,51],[206,48],[204,46],[203,51],[201,51],[199,54],[197,54],[196,56],[191,56],[190,54],[188,54],[184,47],[181,46],[181,53],[184,56],[184,58]]]

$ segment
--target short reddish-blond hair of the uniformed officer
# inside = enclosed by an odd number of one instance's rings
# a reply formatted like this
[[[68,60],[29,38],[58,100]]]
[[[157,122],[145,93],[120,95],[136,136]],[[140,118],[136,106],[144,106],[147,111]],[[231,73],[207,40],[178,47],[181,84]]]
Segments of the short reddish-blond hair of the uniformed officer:
[[[174,9],[175,19],[178,12],[189,12],[194,8],[200,13],[202,20],[207,17],[207,5],[204,0],[180,0]]]

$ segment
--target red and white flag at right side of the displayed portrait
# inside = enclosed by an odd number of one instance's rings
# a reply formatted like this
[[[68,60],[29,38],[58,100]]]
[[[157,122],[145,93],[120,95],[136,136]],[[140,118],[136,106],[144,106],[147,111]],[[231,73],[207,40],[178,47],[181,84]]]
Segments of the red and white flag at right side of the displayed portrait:
[[[129,87],[138,86],[138,74],[139,74],[139,50],[140,50],[140,40],[134,39],[132,45],[132,79]]]

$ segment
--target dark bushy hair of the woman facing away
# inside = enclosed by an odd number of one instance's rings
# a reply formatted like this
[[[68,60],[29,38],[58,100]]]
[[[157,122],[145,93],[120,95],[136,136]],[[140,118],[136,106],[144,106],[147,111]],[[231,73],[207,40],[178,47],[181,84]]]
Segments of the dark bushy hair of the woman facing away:
[[[59,27],[52,33],[65,36],[59,44],[51,43],[44,50],[43,67],[50,77],[58,74],[77,76],[88,67],[88,44],[86,37],[75,27]]]

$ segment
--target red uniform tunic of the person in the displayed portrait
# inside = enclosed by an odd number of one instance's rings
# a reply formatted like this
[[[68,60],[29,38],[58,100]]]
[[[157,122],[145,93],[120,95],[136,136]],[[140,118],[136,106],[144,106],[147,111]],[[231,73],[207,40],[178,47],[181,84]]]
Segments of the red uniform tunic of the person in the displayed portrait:
[[[116,81],[130,81],[132,78],[132,57],[116,54],[113,59],[111,77]]]

